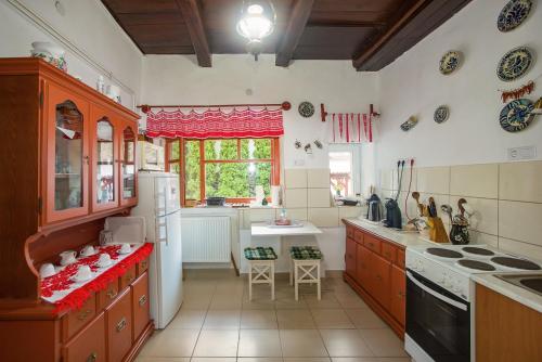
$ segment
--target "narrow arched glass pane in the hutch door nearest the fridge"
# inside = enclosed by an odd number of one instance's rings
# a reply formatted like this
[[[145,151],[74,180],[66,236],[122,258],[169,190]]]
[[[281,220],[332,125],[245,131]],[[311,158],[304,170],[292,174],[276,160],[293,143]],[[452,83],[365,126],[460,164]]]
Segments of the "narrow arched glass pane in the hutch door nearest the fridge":
[[[137,135],[131,127],[122,130],[120,148],[122,174],[122,204],[130,204],[136,199],[136,142]]]

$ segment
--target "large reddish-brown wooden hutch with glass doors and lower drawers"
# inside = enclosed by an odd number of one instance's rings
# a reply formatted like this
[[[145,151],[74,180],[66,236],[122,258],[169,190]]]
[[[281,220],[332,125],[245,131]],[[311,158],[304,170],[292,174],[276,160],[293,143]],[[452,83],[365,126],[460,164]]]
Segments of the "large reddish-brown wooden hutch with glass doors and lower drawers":
[[[154,329],[147,260],[60,314],[38,270],[137,205],[139,116],[39,59],[0,59],[0,360],[132,361]]]

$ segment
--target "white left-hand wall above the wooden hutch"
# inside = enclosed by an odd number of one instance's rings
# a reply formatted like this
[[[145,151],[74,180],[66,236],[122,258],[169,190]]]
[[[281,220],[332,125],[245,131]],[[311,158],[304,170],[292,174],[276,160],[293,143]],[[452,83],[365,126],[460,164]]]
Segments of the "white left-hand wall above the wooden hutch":
[[[133,107],[141,87],[141,52],[100,1],[64,0],[62,4],[63,14],[52,0],[0,0],[0,57],[29,56],[33,41],[51,41],[66,48],[46,30],[52,29],[112,73],[119,82],[109,80],[105,73],[67,51],[70,75],[80,76],[93,88],[100,74],[105,76],[106,83],[124,83],[122,104]],[[36,22],[42,26],[24,15],[25,8],[29,16],[37,15]]]

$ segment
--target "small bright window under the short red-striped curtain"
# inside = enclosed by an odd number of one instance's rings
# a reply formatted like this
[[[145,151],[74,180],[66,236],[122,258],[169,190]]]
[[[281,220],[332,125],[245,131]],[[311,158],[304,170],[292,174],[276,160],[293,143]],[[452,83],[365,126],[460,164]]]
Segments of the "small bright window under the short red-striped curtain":
[[[330,188],[335,197],[360,193],[360,147],[330,145]]]

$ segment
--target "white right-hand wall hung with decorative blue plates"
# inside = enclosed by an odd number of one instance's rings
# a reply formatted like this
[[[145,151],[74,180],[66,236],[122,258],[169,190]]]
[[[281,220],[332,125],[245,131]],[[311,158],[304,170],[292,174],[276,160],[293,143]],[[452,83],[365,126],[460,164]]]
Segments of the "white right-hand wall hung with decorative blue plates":
[[[499,125],[504,106],[499,89],[514,89],[538,78],[535,100],[542,89],[542,9],[509,33],[498,30],[495,21],[507,0],[476,0],[436,29],[396,62],[379,72],[380,111],[377,167],[393,168],[399,157],[415,157],[417,166],[499,163],[506,148],[535,145],[542,158],[542,119],[519,133]],[[538,8],[538,9],[537,9]],[[539,60],[522,78],[506,83],[496,77],[496,64],[508,50],[529,46]],[[455,73],[439,73],[439,60],[448,50],[460,50],[464,63]],[[435,108],[448,104],[447,122],[433,120]],[[411,115],[420,119],[410,132],[399,126]]]

